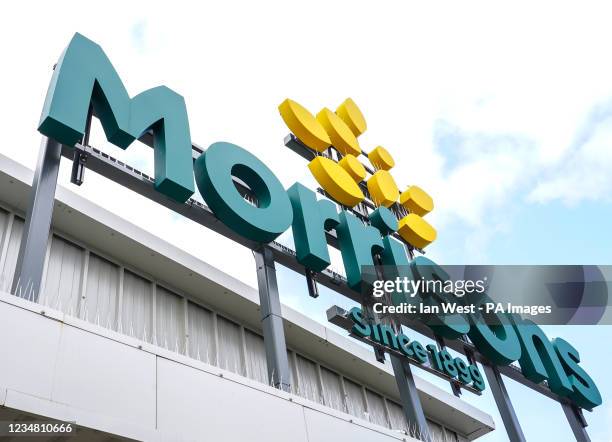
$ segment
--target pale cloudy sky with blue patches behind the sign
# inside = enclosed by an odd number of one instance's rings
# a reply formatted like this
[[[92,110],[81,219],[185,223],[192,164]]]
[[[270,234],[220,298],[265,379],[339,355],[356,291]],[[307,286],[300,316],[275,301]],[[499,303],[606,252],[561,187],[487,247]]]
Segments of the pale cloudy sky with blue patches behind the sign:
[[[195,143],[238,144],[286,187],[312,180],[282,144],[278,104],[318,112],[352,97],[368,122],[362,147],[385,146],[398,184],[434,197],[428,256],[440,263],[611,264],[612,9],[559,3],[11,2],[0,14],[0,153],[34,167],[51,68],[78,31],[130,94],[182,94]],[[97,128],[92,144],[152,171],[148,148],[119,151]],[[68,169],[71,190],[255,285],[250,251],[91,172],[71,186]],[[581,333],[612,338],[609,327]],[[612,408],[600,408],[591,435],[610,441]]]

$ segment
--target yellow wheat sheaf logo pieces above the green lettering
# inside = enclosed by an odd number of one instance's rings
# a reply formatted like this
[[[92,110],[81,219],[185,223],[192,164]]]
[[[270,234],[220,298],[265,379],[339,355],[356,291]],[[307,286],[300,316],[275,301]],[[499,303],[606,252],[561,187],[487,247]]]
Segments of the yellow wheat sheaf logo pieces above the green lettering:
[[[359,146],[357,138],[367,124],[359,107],[347,98],[336,112],[323,108],[315,117],[299,103],[286,99],[279,106],[281,117],[291,132],[307,147],[317,152],[309,164],[310,172],[323,190],[337,203],[355,207],[369,198],[375,206],[396,207],[400,214],[398,232],[416,248],[422,249],[436,239],[436,230],[423,219],[433,210],[432,198],[418,186],[410,186],[400,193],[389,172],[395,160],[382,146],[369,153]],[[322,155],[335,149],[338,161]],[[367,159],[372,168],[360,161]],[[368,173],[368,169],[372,173]],[[365,183],[365,189],[364,189]]]

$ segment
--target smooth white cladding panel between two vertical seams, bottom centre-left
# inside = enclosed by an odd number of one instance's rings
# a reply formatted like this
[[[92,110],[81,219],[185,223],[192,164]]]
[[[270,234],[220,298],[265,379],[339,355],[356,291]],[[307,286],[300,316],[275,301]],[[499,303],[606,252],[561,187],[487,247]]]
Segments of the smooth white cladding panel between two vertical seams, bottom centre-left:
[[[164,441],[311,441],[294,402],[162,358],[157,379]]]

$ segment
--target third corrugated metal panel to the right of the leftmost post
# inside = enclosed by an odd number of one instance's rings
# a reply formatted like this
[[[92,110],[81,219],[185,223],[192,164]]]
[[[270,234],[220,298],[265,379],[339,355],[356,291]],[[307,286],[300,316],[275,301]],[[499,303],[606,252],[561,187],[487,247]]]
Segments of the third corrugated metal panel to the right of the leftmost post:
[[[151,282],[125,271],[120,323],[123,333],[152,342],[153,290]]]

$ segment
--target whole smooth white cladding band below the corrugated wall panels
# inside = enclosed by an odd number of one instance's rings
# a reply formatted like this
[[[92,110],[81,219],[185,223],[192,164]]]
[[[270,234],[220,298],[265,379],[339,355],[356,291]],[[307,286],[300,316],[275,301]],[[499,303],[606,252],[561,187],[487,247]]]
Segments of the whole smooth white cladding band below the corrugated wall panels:
[[[9,408],[147,441],[402,440],[209,365],[178,362],[159,347],[128,345],[102,327],[3,300],[0,315],[0,348],[12,355],[0,364]]]

